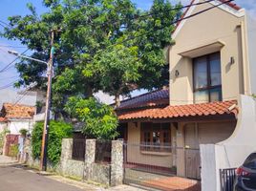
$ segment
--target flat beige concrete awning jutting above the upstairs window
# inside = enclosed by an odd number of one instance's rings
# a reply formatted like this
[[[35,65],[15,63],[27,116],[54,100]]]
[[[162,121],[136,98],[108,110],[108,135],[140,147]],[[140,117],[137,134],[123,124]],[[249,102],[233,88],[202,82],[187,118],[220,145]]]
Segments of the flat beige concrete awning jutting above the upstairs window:
[[[190,49],[182,51],[179,54],[184,57],[194,58],[194,57],[199,57],[201,55],[205,55],[208,53],[219,52],[223,47],[224,47],[224,43],[221,41],[208,42],[199,47],[192,47]]]

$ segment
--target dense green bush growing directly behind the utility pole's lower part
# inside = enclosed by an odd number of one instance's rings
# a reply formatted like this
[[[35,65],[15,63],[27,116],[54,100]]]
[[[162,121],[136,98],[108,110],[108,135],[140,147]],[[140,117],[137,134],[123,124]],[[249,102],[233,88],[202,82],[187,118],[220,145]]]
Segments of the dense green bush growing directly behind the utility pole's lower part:
[[[32,129],[32,157],[40,159],[43,122],[36,122]],[[53,165],[59,162],[61,156],[61,141],[62,138],[72,137],[72,125],[63,121],[51,121],[48,138],[48,160]]]

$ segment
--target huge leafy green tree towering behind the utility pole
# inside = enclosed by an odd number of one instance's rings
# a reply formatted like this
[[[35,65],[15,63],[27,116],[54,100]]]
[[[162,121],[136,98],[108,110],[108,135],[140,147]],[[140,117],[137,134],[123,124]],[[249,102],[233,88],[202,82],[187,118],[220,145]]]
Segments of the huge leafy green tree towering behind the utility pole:
[[[49,12],[37,15],[32,4],[25,16],[11,16],[2,36],[18,39],[32,57],[47,60],[50,31],[54,38],[53,109],[63,113],[69,96],[92,96],[98,90],[127,96],[134,87],[151,90],[166,83],[167,62],[162,49],[171,41],[180,11],[167,0],[155,0],[150,11],[140,11],[130,0],[44,0]],[[46,66],[22,60],[16,65],[17,86],[36,81],[45,89]],[[110,77],[112,76],[112,77]],[[114,77],[115,76],[115,77]]]

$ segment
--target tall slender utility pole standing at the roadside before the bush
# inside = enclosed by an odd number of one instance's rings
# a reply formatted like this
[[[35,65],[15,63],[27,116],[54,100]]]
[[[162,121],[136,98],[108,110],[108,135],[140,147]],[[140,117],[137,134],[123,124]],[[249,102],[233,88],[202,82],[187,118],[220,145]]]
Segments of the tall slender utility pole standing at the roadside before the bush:
[[[41,147],[41,160],[40,160],[41,171],[46,171],[47,169],[47,146],[48,146],[48,135],[49,135],[49,126],[50,126],[50,108],[51,108],[52,77],[53,77],[53,52],[54,52],[53,40],[54,40],[54,30],[51,31],[51,53],[50,53],[50,60],[48,62],[48,67],[47,67],[48,84],[47,84],[44,129],[43,129],[42,147]]]

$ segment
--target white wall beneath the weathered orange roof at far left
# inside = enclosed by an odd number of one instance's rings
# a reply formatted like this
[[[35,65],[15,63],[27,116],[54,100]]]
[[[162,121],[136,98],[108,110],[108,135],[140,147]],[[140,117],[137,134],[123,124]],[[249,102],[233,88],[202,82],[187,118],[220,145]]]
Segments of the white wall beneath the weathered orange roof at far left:
[[[29,132],[32,130],[32,119],[11,119],[8,121],[8,129],[11,134],[18,135],[21,129],[27,129]]]

